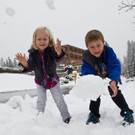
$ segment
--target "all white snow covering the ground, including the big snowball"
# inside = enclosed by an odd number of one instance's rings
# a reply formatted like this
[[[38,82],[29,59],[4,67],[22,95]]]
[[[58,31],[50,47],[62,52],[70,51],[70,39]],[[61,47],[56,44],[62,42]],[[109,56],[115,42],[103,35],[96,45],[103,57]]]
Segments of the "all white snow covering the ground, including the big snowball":
[[[0,74],[0,91],[32,89],[35,88],[33,80],[34,77],[28,75]],[[135,124],[128,127],[121,126],[120,110],[107,92],[107,81],[101,82],[99,78],[92,76],[89,76],[89,79],[88,76],[78,79],[70,94],[64,95],[72,116],[69,124],[63,123],[49,90],[45,113],[39,116],[36,115],[37,97],[31,98],[26,95],[25,98],[21,96],[10,98],[7,103],[0,104],[0,135],[134,135]],[[126,83],[126,79],[122,78],[122,82],[120,89],[130,108],[135,111],[135,80]],[[93,91],[99,84],[102,85],[102,89],[104,84],[105,88],[94,95]],[[88,96],[90,93],[92,96]],[[100,123],[86,125],[89,100],[100,93],[102,95]]]

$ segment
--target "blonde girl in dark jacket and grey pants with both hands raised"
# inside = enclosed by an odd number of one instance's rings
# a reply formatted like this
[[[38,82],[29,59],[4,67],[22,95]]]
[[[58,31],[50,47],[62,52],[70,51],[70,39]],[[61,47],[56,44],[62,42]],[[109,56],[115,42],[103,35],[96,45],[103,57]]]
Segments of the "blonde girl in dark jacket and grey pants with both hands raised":
[[[50,89],[63,121],[69,123],[71,116],[60,90],[55,63],[55,61],[61,61],[65,55],[61,49],[61,41],[57,39],[55,45],[51,31],[46,27],[39,27],[33,34],[33,42],[28,52],[28,61],[26,61],[25,54],[22,55],[22,53],[17,53],[15,59],[24,67],[22,72],[27,73],[33,70],[35,72],[35,83],[38,91],[38,114],[45,110],[46,90]]]

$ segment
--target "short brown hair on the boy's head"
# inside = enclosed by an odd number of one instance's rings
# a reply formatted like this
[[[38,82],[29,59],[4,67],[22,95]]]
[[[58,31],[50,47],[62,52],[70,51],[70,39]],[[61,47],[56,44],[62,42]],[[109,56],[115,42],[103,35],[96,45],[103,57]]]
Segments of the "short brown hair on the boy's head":
[[[88,43],[94,40],[101,40],[104,43],[104,36],[99,30],[91,30],[85,36],[85,44],[88,47]]]

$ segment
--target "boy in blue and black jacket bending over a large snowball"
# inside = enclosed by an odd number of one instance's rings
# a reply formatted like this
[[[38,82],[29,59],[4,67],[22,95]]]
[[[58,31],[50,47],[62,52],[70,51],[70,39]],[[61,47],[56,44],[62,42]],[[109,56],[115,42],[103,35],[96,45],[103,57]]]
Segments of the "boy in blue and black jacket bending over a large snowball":
[[[104,45],[104,37],[98,30],[89,31],[85,37],[85,43],[88,50],[83,54],[82,75],[98,75],[101,78],[110,78],[108,86],[109,93],[115,104],[121,109],[121,116],[124,117],[123,125],[134,123],[133,110],[128,107],[119,87],[121,84],[120,74],[121,66],[113,49]],[[100,97],[96,101],[90,101],[89,116],[86,124],[98,123],[100,114]]]

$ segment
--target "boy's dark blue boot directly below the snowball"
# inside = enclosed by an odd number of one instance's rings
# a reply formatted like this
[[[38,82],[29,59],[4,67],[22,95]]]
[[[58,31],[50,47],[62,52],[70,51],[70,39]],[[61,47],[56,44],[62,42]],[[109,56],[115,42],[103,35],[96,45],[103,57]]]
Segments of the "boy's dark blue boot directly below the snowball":
[[[89,125],[90,122],[93,124],[99,123],[99,118],[92,112],[89,113],[88,115],[88,120],[86,121],[86,125]]]

